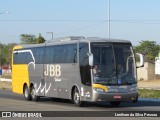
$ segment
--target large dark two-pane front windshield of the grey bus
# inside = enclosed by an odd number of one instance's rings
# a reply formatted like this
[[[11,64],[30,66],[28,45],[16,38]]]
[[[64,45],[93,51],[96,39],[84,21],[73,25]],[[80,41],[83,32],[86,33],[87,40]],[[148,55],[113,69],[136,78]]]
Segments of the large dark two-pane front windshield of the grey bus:
[[[92,43],[93,83],[128,85],[136,83],[133,49],[129,43]]]

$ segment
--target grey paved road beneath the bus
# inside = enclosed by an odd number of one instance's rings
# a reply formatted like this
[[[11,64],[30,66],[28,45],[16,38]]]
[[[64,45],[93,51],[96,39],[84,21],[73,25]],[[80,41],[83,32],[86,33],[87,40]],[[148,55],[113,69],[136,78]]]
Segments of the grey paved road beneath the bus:
[[[85,107],[79,108],[74,106],[70,101],[67,100],[42,98],[39,102],[32,102],[24,100],[23,95],[12,93],[9,90],[0,90],[0,111],[160,111],[160,102],[153,102],[153,101],[139,101],[138,103],[127,102],[127,103],[122,103],[120,107],[116,108],[111,107],[109,103],[103,103],[103,104],[90,103]],[[63,118],[63,120],[64,119],[72,120],[70,118]],[[83,120],[85,119],[88,120],[88,118],[83,118]],[[104,119],[106,120],[106,118]],[[120,120],[120,118],[119,119],[114,118],[114,119]],[[145,119],[145,118],[143,117],[140,119]],[[147,118],[147,120],[148,119],[153,119],[153,118]]]

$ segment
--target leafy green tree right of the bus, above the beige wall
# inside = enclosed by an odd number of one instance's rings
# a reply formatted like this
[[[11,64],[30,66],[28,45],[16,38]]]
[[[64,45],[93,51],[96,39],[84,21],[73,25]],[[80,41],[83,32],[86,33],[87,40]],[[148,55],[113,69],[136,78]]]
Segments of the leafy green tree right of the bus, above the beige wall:
[[[155,41],[142,40],[140,45],[134,47],[135,52],[140,52],[145,56],[145,61],[153,62],[159,53],[159,45]]]

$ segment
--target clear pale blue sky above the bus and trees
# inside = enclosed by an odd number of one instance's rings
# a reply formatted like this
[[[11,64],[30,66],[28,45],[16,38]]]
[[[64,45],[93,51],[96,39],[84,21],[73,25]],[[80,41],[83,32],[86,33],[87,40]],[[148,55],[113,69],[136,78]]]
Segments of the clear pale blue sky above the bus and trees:
[[[110,37],[160,44],[160,0],[110,0]],[[0,0],[0,43],[20,43],[21,34],[46,39],[108,38],[108,0]]]

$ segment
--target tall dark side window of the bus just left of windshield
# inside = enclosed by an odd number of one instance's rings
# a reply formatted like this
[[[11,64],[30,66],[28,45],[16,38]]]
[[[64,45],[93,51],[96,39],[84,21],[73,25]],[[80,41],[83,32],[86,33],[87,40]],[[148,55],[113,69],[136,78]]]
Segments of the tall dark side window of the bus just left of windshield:
[[[79,65],[80,65],[80,74],[81,81],[84,85],[91,85],[91,74],[89,66],[88,53],[89,48],[87,43],[79,44]]]

